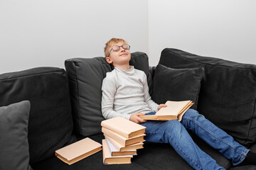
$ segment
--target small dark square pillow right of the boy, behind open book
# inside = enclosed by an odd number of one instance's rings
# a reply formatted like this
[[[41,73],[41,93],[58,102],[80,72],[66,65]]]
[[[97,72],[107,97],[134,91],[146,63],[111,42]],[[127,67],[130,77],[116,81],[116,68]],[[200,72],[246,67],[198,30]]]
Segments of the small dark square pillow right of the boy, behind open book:
[[[157,65],[154,73],[154,89],[152,99],[156,103],[166,101],[193,101],[191,108],[196,109],[203,68],[171,69]]]

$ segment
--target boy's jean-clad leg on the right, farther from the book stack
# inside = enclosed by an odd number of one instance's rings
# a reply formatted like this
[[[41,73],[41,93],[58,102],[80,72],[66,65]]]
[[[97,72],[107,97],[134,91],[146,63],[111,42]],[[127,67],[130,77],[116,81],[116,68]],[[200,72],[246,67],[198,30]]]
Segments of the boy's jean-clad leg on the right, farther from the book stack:
[[[233,165],[240,164],[249,152],[249,149],[235,142],[233,137],[215,126],[198,111],[188,109],[183,115],[181,123],[186,129],[195,132],[208,145],[218,149],[223,156],[232,161]]]

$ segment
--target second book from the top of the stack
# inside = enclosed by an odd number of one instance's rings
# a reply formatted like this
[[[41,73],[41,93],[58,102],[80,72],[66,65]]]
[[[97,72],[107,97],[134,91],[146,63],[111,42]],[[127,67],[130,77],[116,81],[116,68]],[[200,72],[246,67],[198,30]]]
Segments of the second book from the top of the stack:
[[[123,145],[124,147],[128,146],[128,145],[132,145],[134,143],[138,143],[138,142],[144,142],[144,136],[146,136],[146,134],[142,134],[142,135],[137,135],[134,137],[124,137],[122,135],[119,135],[116,132],[113,132],[112,130],[109,130],[107,128],[102,127],[102,132],[110,137],[112,137],[112,139],[114,139],[115,141],[119,142],[119,144]]]

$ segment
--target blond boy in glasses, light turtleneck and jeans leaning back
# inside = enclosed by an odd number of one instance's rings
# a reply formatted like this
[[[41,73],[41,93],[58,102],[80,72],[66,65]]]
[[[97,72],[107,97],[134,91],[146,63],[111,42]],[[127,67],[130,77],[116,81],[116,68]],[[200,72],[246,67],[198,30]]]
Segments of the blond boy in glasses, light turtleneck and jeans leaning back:
[[[131,53],[125,40],[112,38],[106,43],[105,57],[114,66],[102,82],[102,115],[104,118],[122,116],[146,127],[147,142],[169,143],[194,169],[223,169],[203,152],[187,130],[192,130],[210,146],[218,149],[233,165],[256,164],[256,153],[250,152],[233,137],[210,123],[193,109],[188,109],[181,122],[178,120],[143,120],[139,115],[154,114],[164,104],[156,104],[149,96],[144,72],[129,65]]]

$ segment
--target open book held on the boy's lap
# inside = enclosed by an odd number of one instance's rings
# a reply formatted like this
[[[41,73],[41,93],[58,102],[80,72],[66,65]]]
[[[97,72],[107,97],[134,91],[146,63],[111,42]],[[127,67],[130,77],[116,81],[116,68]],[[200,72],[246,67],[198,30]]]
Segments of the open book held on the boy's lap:
[[[155,115],[140,115],[144,120],[178,120],[181,121],[182,116],[193,103],[192,101],[166,101],[166,108],[161,108]]]

